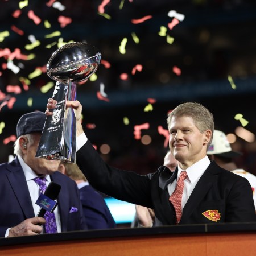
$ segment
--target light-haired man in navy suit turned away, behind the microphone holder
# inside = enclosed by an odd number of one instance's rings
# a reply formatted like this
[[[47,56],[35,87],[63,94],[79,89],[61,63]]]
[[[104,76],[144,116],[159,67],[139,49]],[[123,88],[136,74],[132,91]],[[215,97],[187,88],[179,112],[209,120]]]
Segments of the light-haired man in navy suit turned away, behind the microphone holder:
[[[104,198],[89,185],[77,164],[61,161],[58,170],[75,180],[88,229],[116,228],[117,225]]]

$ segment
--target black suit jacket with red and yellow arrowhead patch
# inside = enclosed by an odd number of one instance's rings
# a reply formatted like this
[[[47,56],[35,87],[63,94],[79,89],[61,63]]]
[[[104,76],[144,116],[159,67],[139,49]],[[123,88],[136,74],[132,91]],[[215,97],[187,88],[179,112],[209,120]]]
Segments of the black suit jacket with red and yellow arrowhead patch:
[[[167,185],[176,178],[177,168],[172,173],[168,168],[160,167],[153,174],[144,176],[118,170],[105,164],[89,141],[77,151],[77,164],[98,191],[154,209],[156,225],[175,224],[175,210],[168,200]],[[220,220],[214,215],[216,213]],[[255,220],[249,182],[212,162],[185,204],[180,224]]]

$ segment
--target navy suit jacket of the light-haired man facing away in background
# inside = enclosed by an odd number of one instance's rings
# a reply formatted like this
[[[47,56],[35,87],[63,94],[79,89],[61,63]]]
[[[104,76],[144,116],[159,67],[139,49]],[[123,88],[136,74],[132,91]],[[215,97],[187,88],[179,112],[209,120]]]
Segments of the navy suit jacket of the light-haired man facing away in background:
[[[115,228],[116,224],[104,198],[90,185],[79,189],[88,229]]]

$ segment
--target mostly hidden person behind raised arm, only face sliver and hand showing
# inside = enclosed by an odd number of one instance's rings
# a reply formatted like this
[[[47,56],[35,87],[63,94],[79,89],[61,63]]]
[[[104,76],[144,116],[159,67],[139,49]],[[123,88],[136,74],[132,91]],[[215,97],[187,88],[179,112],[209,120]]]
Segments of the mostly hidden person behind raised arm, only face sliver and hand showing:
[[[170,171],[174,172],[177,167],[177,160],[171,151],[168,150],[167,154],[164,156],[163,166],[166,166]],[[131,228],[136,227],[152,227],[155,225],[155,212],[151,208],[143,207],[142,205],[135,205],[135,216],[133,222],[131,222]]]

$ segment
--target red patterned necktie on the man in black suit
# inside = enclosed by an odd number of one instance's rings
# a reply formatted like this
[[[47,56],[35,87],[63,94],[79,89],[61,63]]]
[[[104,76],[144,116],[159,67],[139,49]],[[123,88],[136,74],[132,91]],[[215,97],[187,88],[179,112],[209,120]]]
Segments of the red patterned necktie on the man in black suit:
[[[181,200],[182,200],[183,189],[184,189],[184,180],[186,177],[187,177],[187,172],[182,171],[177,181],[176,188],[169,198],[169,201],[174,206],[174,209],[176,212],[176,224],[180,222],[180,219],[182,216]]]

